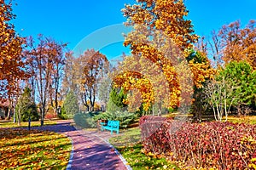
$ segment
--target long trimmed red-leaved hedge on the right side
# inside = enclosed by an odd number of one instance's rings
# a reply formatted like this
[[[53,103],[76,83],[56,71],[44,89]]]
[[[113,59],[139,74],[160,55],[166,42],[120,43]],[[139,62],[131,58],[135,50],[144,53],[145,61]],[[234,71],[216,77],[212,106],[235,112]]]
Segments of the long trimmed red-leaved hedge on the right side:
[[[246,169],[256,157],[256,126],[231,122],[190,123],[160,116],[140,120],[146,153],[189,167]]]

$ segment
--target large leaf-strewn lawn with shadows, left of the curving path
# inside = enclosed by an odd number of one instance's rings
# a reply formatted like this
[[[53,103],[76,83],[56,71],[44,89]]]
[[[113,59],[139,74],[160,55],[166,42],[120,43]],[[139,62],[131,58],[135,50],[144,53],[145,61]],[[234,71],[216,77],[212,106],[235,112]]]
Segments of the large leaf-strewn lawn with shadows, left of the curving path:
[[[0,129],[0,169],[66,169],[71,150],[59,133]]]

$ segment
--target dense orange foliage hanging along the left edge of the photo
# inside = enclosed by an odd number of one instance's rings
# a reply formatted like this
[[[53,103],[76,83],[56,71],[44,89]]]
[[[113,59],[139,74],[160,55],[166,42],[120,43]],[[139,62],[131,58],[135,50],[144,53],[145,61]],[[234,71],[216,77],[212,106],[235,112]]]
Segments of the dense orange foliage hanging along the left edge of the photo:
[[[18,82],[28,77],[25,62],[22,59],[22,45],[24,38],[15,32],[15,26],[10,20],[15,19],[12,14],[12,3],[0,1],[0,97],[6,98],[19,92]]]

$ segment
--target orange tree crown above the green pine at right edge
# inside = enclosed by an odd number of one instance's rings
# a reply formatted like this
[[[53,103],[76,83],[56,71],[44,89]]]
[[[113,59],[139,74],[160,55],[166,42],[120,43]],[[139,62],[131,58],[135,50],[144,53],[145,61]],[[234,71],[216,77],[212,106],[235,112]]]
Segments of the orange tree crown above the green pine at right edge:
[[[249,65],[256,69],[256,21],[250,20],[247,26],[241,28],[240,21],[224,25],[217,32],[212,34],[212,51],[218,57],[218,63],[224,65],[230,61],[247,61]],[[214,56],[213,56],[214,57]],[[219,61],[220,60],[220,61]]]

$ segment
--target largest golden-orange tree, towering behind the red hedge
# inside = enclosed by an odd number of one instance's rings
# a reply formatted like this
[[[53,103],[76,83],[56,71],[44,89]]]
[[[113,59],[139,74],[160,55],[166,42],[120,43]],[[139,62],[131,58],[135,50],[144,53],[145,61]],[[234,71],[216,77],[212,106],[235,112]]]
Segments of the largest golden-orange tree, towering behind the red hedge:
[[[113,77],[115,86],[139,90],[145,111],[155,103],[160,105],[160,110],[161,106],[191,105],[193,84],[201,87],[209,75],[205,72],[209,65],[186,59],[192,43],[198,39],[191,20],[184,19],[188,10],[183,1],[178,0],[137,2],[123,9],[127,18],[125,25],[134,29],[125,36],[124,42],[130,46],[132,56],[125,58]]]

